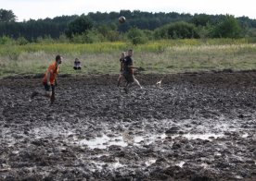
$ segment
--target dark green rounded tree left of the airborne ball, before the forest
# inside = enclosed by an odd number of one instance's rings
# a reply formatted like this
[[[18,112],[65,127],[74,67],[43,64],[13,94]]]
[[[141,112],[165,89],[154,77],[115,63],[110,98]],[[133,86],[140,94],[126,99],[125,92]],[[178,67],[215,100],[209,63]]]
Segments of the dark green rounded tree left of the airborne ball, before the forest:
[[[81,17],[76,18],[70,22],[68,25],[68,30],[66,31],[66,35],[69,38],[72,38],[73,35],[82,34],[86,30],[91,30],[92,28],[93,21],[90,18],[82,15]]]

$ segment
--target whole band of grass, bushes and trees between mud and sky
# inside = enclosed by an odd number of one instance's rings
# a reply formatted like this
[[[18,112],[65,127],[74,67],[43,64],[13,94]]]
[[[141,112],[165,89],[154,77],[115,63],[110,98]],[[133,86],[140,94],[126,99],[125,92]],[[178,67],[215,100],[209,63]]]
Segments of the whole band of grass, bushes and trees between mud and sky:
[[[255,29],[255,19],[231,15],[122,10],[16,22],[1,9],[0,76],[44,73],[56,54],[63,73],[117,74],[128,48],[143,73],[253,69]],[[72,70],[75,57],[82,71]]]

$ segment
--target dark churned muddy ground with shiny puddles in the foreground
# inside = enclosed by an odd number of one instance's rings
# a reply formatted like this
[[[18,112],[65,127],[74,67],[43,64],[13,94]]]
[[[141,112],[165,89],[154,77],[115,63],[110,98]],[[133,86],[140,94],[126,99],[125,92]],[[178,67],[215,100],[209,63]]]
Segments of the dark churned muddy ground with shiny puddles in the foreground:
[[[0,180],[256,180],[256,72],[117,78],[0,79]]]

